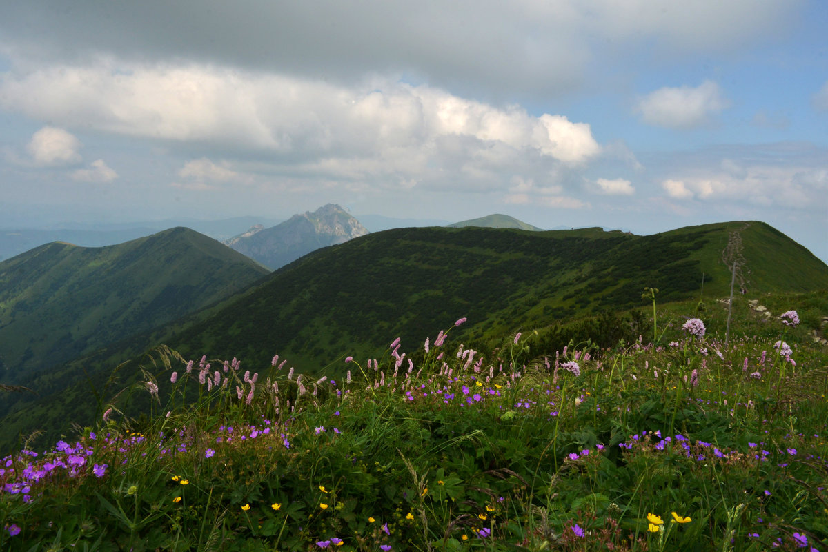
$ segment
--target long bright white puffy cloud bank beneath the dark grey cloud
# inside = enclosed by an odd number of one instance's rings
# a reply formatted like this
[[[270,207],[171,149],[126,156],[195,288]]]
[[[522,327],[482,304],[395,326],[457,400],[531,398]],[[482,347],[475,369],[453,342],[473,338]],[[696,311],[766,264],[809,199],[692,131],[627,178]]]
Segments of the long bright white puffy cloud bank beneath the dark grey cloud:
[[[66,126],[222,151],[271,175],[350,185],[503,190],[512,175],[578,170],[601,153],[588,123],[379,77],[344,86],[216,65],[99,59],[9,72],[0,77],[0,103]],[[190,184],[232,177],[229,166],[206,159],[183,171]]]

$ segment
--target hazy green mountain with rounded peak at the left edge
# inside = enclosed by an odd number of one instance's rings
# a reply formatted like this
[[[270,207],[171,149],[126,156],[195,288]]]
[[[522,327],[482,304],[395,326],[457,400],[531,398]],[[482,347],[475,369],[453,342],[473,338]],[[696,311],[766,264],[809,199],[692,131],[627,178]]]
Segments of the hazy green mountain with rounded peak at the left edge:
[[[0,262],[2,381],[200,310],[267,274],[188,228],[108,247],[53,242]]]

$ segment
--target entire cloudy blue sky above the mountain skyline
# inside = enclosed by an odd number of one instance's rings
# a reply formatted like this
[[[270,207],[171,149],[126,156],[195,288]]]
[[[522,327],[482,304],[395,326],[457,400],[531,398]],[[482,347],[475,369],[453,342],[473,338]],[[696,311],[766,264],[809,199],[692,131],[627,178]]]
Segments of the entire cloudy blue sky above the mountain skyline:
[[[0,227],[761,220],[828,262],[828,2],[3,3]]]

